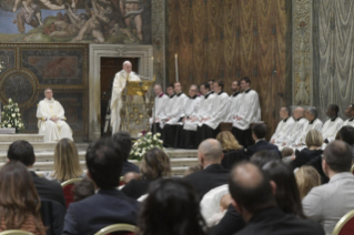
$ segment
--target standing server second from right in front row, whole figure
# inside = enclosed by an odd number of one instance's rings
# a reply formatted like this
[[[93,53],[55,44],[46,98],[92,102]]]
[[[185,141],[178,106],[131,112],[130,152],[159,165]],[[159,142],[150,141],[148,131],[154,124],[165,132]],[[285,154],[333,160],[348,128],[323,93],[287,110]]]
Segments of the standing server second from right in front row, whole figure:
[[[232,122],[230,115],[231,101],[229,95],[223,92],[223,81],[215,81],[213,90],[215,98],[212,100],[211,112],[199,123],[196,136],[199,143],[206,139],[215,139],[219,133],[219,124],[222,122]]]

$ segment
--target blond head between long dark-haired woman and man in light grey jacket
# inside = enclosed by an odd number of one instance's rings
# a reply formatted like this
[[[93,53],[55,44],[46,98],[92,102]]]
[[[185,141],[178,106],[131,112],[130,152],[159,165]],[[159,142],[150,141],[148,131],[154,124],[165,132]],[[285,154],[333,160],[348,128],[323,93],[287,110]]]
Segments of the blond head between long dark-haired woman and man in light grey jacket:
[[[303,165],[297,168],[295,177],[301,200],[303,200],[313,187],[321,185],[318,172],[310,165]]]

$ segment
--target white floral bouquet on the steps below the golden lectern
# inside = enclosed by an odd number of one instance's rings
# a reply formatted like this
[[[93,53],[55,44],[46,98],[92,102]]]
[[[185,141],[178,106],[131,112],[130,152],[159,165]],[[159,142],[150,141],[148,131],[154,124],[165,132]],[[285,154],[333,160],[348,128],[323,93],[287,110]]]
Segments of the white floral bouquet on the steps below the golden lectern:
[[[129,159],[141,161],[142,156],[151,149],[158,147],[164,150],[163,141],[160,140],[161,134],[146,134],[140,133],[138,141],[133,144],[132,151],[130,152]]]

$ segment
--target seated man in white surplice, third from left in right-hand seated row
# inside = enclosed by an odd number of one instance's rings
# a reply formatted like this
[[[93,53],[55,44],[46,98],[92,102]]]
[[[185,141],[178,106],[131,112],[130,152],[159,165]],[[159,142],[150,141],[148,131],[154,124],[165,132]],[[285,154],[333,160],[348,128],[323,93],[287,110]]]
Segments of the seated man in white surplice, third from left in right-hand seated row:
[[[305,117],[309,122],[306,123],[303,133],[295,141],[295,145],[297,146],[297,150],[300,150],[299,146],[305,145],[306,135],[311,130],[315,129],[318,132],[321,132],[323,126],[323,122],[317,117],[316,108],[314,106],[307,108],[305,112]]]

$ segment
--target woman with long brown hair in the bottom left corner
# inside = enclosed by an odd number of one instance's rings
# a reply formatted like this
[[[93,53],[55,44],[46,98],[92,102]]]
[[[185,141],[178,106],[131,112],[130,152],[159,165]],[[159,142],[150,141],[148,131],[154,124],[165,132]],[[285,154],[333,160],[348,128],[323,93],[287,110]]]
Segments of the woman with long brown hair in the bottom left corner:
[[[45,235],[40,215],[40,198],[26,166],[8,162],[0,170],[0,232],[21,229]]]

